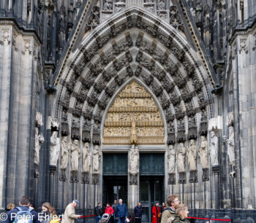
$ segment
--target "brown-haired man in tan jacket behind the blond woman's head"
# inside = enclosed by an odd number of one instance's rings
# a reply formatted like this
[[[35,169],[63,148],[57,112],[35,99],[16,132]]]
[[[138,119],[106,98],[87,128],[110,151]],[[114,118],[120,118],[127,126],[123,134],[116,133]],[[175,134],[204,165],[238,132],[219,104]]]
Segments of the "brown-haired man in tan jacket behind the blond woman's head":
[[[174,216],[176,215],[174,207],[179,203],[180,202],[178,200],[178,195],[170,195],[169,197],[167,197],[167,207],[162,210],[161,223],[167,223],[168,219],[174,218]]]

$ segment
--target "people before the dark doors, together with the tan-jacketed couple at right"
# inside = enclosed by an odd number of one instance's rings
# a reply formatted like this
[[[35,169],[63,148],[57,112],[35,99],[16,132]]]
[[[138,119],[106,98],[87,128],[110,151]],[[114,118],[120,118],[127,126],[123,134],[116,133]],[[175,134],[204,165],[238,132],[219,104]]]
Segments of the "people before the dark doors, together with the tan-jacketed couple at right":
[[[184,204],[180,204],[178,200],[178,195],[170,195],[167,197],[165,203],[162,203],[162,207],[159,207],[159,202],[155,203],[152,208],[152,223],[187,223],[187,214],[189,214],[188,208]],[[123,203],[123,200],[119,199],[118,204],[114,200],[113,205],[107,203],[107,206],[104,210],[102,208],[102,203],[94,208],[94,214],[96,215],[96,222],[98,223],[104,214],[107,214],[107,217],[103,220],[110,223],[127,223],[129,222],[127,214],[127,206]],[[138,206],[134,209],[134,219],[135,223],[141,223],[143,216],[143,208],[141,203],[138,203]]]

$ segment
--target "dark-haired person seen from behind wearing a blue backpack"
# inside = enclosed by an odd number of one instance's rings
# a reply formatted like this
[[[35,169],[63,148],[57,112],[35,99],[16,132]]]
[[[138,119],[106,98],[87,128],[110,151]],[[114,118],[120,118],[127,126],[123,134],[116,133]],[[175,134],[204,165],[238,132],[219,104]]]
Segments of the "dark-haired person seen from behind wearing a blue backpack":
[[[19,206],[13,208],[11,211],[7,212],[7,219],[4,223],[21,223],[24,222],[24,217],[26,217],[26,223],[39,223],[38,213],[34,209],[29,208],[30,199],[29,197],[23,196],[20,198]]]

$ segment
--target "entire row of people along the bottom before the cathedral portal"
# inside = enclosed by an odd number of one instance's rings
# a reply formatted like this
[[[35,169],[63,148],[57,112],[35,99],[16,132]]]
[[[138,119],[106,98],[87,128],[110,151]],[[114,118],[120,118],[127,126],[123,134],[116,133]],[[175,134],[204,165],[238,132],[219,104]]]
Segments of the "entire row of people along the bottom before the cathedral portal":
[[[188,208],[184,204],[180,204],[178,195],[170,195],[167,197],[165,203],[162,203],[162,207],[159,207],[159,203],[155,203],[152,208],[152,223],[187,223],[187,214],[189,214]],[[42,203],[42,212],[38,213],[34,205],[30,203],[29,197],[23,196],[20,199],[19,205],[15,206],[10,203],[7,206],[7,219],[4,223],[21,223],[18,216],[28,216],[31,218],[26,223],[75,223],[75,219],[78,219],[80,215],[75,214],[75,208],[79,206],[78,200],[73,200],[69,203],[65,209],[64,216],[59,218],[56,215],[55,208],[50,203]],[[114,200],[113,205],[107,203],[105,208],[102,208],[102,203],[98,203],[94,208],[94,215],[96,216],[96,222],[109,222],[109,223],[127,223],[129,222],[127,206],[123,203],[122,199]],[[106,215],[106,216],[105,216]],[[143,208],[141,203],[134,209],[134,221],[135,223],[141,223],[143,216]]]

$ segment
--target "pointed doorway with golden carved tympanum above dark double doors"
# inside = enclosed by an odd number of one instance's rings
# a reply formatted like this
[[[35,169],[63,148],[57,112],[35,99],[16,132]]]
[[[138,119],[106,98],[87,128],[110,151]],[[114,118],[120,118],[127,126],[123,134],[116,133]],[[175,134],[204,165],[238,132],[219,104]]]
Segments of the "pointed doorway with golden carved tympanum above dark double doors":
[[[130,173],[132,144],[138,147],[138,174]],[[108,109],[103,140],[103,202],[122,198],[129,211],[141,201],[143,222],[164,200],[165,130],[153,96],[138,82],[129,82]]]

